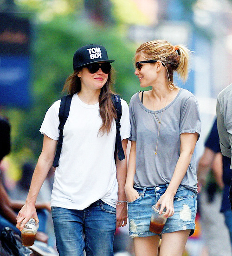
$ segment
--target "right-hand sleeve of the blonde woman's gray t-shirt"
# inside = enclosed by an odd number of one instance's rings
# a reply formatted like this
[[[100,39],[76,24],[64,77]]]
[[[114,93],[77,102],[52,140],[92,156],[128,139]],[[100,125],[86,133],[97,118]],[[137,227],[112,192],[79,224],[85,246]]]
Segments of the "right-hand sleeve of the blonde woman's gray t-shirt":
[[[201,121],[199,106],[194,96],[187,98],[181,109],[180,115],[180,134],[198,133],[200,137]]]

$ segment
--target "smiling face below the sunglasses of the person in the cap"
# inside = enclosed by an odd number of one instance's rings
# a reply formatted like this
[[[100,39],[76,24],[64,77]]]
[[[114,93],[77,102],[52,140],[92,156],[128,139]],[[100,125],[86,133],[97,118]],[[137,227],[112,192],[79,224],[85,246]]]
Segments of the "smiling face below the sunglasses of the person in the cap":
[[[101,90],[108,79],[108,74],[103,73],[101,68],[99,68],[96,73],[91,74],[87,67],[83,67],[77,76],[81,80],[81,88],[91,90]]]

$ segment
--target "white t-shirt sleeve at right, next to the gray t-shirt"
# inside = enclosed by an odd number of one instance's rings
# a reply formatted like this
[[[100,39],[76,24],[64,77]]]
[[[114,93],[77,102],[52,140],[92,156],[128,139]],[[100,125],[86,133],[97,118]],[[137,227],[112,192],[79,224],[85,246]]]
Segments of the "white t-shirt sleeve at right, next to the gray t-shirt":
[[[129,120],[129,107],[126,101],[121,99],[122,117],[120,119],[120,135],[121,140],[128,139],[130,136],[130,120]]]

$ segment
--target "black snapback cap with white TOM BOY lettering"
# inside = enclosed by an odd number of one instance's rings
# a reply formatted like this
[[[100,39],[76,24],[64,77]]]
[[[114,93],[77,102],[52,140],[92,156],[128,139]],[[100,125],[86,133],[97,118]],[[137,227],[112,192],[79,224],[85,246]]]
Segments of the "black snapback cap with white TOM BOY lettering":
[[[106,48],[102,45],[85,45],[77,49],[73,56],[73,70],[98,61],[114,62],[114,60],[108,59]]]

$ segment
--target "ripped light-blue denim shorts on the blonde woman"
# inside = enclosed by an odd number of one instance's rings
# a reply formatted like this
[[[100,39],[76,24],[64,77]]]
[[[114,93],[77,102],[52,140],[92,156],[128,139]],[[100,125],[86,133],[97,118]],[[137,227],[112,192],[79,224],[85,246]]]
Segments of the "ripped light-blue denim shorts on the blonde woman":
[[[139,198],[128,202],[129,234],[131,237],[154,236],[149,231],[152,205],[164,194],[168,184],[155,186],[153,188],[140,188],[134,186],[139,193]],[[191,229],[193,235],[195,229],[195,217],[197,210],[196,193],[180,185],[174,196],[174,215],[168,217],[161,234],[179,230]],[[157,234],[158,235],[158,234]]]

